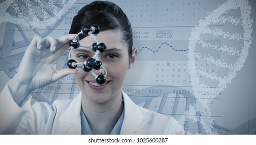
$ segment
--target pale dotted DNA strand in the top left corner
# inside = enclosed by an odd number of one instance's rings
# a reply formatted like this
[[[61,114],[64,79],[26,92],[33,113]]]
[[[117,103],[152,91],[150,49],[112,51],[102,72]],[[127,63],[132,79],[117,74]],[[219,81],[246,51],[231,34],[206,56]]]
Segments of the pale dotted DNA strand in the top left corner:
[[[48,0],[47,5],[35,0],[5,1],[0,4],[0,24],[10,22],[25,27],[45,28],[59,20],[74,3],[75,0],[60,0],[58,3]],[[24,6],[25,12],[21,6]]]

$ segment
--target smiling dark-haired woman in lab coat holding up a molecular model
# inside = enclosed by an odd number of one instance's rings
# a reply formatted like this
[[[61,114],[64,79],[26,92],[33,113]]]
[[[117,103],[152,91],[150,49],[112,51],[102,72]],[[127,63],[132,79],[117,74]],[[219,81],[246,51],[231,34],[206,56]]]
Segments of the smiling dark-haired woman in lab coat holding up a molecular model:
[[[56,70],[56,62],[69,48],[69,41],[84,25],[93,24],[100,26],[98,39],[107,46],[106,51],[99,54],[107,70],[106,82],[102,85],[80,68]],[[79,36],[81,46],[89,46],[94,41],[92,37]],[[84,62],[93,54],[90,49],[77,48],[71,57]],[[131,25],[122,9],[111,2],[86,5],[74,17],[70,35],[58,39],[36,35],[31,41],[17,74],[1,92],[1,134],[164,134],[168,127],[174,134],[183,134],[176,120],[135,105],[122,91],[126,72],[136,56],[137,50],[132,49]],[[105,71],[93,69],[93,72],[104,75]],[[30,106],[28,96],[33,90],[70,74],[75,75],[81,90],[74,99]]]

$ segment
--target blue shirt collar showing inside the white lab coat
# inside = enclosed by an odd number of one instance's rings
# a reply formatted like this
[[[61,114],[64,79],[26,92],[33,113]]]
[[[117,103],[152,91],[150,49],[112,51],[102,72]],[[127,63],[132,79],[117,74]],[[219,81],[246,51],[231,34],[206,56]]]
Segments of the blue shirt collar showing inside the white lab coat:
[[[120,134],[121,127],[122,127],[122,124],[124,121],[124,110],[125,109],[123,109],[123,112],[122,112],[119,120],[117,121],[116,125],[112,129],[112,131],[110,133],[111,135],[119,135]],[[82,135],[92,135],[91,128],[85,118],[85,114],[82,109],[81,109],[80,116],[81,116]]]

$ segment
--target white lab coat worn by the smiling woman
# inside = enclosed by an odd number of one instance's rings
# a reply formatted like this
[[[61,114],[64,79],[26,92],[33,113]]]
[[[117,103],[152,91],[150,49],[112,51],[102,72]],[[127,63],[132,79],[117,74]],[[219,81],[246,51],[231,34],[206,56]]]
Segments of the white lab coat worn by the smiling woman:
[[[120,134],[164,134],[168,127],[174,134],[184,134],[183,127],[172,117],[134,104],[124,92],[123,97],[125,114]],[[30,106],[28,101],[20,108],[6,85],[0,94],[0,133],[81,134],[80,111],[81,93],[52,105],[37,102]]]

